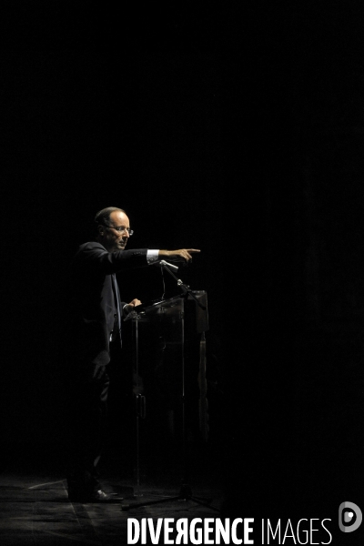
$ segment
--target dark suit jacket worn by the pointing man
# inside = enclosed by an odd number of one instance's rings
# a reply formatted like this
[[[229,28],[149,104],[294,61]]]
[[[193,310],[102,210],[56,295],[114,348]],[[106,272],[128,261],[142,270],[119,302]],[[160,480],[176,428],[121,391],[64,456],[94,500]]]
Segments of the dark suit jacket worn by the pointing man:
[[[116,272],[147,266],[147,248],[107,252],[96,241],[81,245],[71,264],[69,320],[72,359],[110,361],[110,335],[117,316]],[[120,301],[120,311],[125,302]],[[121,327],[121,325],[120,325]]]

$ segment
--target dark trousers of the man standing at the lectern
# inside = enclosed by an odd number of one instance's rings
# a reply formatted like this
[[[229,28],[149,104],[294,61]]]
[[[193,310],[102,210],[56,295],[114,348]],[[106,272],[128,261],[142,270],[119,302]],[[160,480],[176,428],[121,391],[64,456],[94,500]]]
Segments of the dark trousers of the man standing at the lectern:
[[[109,377],[106,367],[87,363],[72,386],[68,436],[68,492],[100,488],[98,462],[106,435]]]

